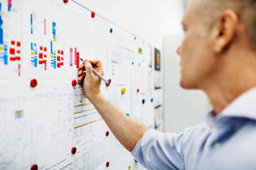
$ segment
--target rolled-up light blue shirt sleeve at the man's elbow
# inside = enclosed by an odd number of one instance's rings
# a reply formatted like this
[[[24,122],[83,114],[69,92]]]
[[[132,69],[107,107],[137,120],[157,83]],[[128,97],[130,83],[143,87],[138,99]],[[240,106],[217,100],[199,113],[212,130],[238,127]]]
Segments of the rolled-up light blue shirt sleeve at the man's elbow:
[[[144,133],[131,154],[148,170],[184,170],[183,134],[150,129]]]

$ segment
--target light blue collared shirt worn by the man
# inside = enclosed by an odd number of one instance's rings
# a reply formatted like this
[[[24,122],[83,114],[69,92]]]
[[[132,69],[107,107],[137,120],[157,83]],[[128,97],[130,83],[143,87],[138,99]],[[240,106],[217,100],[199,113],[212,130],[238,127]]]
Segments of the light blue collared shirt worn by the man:
[[[146,131],[132,155],[148,170],[256,170],[256,87],[180,134]]]

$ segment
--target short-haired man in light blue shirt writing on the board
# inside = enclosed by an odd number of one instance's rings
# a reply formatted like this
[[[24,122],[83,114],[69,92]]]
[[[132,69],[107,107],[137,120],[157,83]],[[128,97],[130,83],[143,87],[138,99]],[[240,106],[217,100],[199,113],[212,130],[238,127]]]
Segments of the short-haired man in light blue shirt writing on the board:
[[[183,133],[161,133],[100,95],[99,60],[86,61],[85,96],[137,161],[150,170],[256,170],[256,0],[193,0],[182,25],[181,87],[201,89],[213,111]]]

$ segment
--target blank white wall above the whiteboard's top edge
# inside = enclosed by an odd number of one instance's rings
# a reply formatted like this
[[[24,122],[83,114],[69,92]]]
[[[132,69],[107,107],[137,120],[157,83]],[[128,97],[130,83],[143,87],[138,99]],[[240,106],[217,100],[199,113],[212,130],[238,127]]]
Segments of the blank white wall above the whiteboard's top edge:
[[[181,32],[181,0],[80,0],[162,51],[163,36]]]

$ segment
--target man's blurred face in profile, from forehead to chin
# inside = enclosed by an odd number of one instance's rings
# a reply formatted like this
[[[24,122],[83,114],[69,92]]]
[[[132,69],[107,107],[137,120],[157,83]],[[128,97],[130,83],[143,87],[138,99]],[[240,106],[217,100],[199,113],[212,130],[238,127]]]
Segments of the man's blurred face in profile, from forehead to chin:
[[[182,45],[177,49],[181,56],[181,87],[201,89],[214,72],[215,57],[208,29],[196,12],[196,5],[188,8],[182,21],[186,32]]]

